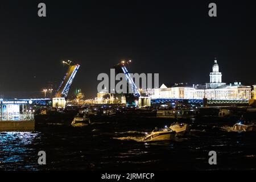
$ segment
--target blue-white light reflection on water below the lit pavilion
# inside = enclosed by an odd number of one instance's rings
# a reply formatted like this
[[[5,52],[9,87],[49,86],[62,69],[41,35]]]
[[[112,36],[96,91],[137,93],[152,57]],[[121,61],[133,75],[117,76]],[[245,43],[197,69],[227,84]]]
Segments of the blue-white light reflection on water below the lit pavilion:
[[[35,132],[1,132],[0,169],[17,170],[19,166],[22,166],[23,169],[36,170],[33,166],[37,162],[37,155],[32,146],[34,140],[39,136],[40,133]],[[31,160],[33,157],[35,160]]]

